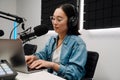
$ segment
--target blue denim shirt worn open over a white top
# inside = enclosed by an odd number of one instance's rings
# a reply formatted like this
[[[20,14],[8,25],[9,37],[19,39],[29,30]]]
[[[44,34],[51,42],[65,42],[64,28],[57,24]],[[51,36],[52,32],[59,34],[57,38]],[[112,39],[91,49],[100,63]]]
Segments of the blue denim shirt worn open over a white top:
[[[57,36],[52,36],[45,48],[35,55],[47,61],[52,61],[52,53],[56,48]],[[87,50],[80,36],[67,35],[64,38],[60,54],[60,68],[57,75],[67,80],[80,80],[85,74]],[[50,72],[50,70],[49,70]]]

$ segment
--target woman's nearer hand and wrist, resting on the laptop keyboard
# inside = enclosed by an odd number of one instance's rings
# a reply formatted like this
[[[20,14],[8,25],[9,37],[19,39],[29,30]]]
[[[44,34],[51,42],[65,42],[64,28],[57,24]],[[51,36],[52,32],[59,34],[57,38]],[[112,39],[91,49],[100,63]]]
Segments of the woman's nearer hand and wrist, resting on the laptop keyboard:
[[[29,65],[31,69],[40,69],[40,68],[52,68],[54,66],[53,62],[45,61],[45,60],[35,60],[32,64]]]

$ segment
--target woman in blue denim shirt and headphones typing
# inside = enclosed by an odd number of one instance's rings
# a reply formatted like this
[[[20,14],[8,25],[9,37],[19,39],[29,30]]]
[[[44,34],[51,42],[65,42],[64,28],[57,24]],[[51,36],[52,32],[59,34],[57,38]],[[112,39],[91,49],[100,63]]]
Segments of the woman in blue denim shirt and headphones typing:
[[[71,4],[58,6],[51,17],[57,36],[52,36],[45,48],[26,62],[31,69],[48,71],[67,80],[80,80],[85,74],[87,50],[78,32],[77,10]]]

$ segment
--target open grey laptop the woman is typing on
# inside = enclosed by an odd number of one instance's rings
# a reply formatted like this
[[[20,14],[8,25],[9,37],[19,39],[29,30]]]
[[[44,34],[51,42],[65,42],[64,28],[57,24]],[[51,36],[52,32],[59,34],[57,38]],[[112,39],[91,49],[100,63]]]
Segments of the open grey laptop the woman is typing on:
[[[40,70],[30,70],[25,62],[22,41],[17,39],[0,39],[0,60],[7,60],[19,72],[33,73]]]

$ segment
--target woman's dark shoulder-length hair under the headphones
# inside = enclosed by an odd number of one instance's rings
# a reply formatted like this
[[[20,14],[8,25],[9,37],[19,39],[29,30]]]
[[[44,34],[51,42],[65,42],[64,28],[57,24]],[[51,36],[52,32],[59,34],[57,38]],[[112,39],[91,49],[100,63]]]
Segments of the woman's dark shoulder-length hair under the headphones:
[[[74,7],[74,5],[66,3],[66,4],[59,5],[57,8],[61,8],[68,17],[68,32],[67,32],[67,34],[68,35],[80,35],[80,33],[78,32],[78,30],[79,30],[78,12],[77,12],[77,9]],[[76,25],[71,25],[73,23],[70,21],[70,19],[73,16],[75,18],[77,18],[76,23],[75,23]]]

